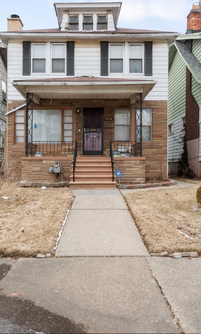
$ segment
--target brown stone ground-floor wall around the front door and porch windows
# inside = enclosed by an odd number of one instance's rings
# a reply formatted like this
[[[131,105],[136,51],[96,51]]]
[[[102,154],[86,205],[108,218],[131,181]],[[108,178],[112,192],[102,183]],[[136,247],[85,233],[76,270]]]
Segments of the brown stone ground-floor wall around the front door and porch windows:
[[[10,101],[8,103],[8,111],[20,106],[24,101]],[[98,107],[104,108],[104,116],[114,117],[114,109],[134,108],[129,104],[129,100],[42,100],[40,107],[48,108],[65,108],[74,107],[75,111],[79,108]],[[35,108],[38,106],[35,105]],[[152,109],[152,142],[143,143],[142,155],[145,158],[145,177],[167,177],[167,101],[143,101],[143,108]],[[16,177],[21,177],[21,157],[25,157],[25,145],[13,144],[13,117],[14,113],[8,115],[7,128],[7,162],[8,165],[16,166]],[[113,121],[104,122],[104,155],[109,156],[109,142],[113,141]],[[79,132],[79,129],[81,131]],[[134,122],[132,123],[132,132]],[[75,112],[75,138],[78,142],[78,154],[82,153],[82,112]],[[134,140],[134,138],[131,140]],[[36,157],[33,157],[36,159]],[[43,156],[45,160],[45,157]],[[53,158],[52,161],[59,158]],[[60,159],[61,160],[61,159]],[[125,160],[126,161],[126,160]],[[118,166],[120,169],[120,167]],[[48,168],[49,170],[49,168]],[[32,175],[33,176],[33,175]]]

